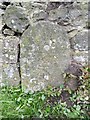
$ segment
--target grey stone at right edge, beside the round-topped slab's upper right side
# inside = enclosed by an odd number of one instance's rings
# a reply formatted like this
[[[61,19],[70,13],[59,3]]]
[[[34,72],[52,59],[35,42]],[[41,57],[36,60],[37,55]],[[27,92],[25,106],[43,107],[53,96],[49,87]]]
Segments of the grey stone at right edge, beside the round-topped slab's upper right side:
[[[88,30],[83,29],[71,40],[71,45],[74,50],[88,50]]]

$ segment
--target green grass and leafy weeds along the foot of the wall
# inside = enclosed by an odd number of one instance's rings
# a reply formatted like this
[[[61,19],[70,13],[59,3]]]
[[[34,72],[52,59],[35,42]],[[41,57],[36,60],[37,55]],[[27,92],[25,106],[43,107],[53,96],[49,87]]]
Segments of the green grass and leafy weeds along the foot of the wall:
[[[0,92],[0,118],[75,118],[89,120],[89,68],[85,68],[82,76],[82,85],[76,92],[60,86],[48,87],[42,91],[24,93],[19,87],[3,87]],[[62,93],[68,91],[70,104],[67,104],[67,95]],[[61,96],[62,95],[62,96]],[[73,103],[73,104],[71,104]]]

